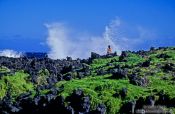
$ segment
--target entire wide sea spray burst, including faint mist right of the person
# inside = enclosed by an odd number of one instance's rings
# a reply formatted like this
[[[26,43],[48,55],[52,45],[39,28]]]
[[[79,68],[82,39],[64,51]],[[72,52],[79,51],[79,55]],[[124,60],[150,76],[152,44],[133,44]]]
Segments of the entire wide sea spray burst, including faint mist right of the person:
[[[118,17],[112,20],[99,36],[79,35],[63,23],[46,24],[48,29],[47,45],[50,48],[49,57],[62,59],[67,56],[88,58],[91,52],[106,54],[106,48],[111,45],[113,52],[122,50],[137,50],[155,38],[153,31],[143,26],[128,25]]]

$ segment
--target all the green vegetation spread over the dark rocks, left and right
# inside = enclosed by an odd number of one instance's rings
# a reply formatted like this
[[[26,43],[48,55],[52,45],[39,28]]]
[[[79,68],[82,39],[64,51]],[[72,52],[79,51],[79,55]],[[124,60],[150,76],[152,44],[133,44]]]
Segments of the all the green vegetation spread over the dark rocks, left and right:
[[[142,66],[146,61],[150,64],[147,67]],[[167,64],[173,64],[172,70],[164,70]],[[109,71],[116,66],[127,68],[127,76],[137,74],[139,77],[147,77],[149,82],[147,86],[137,86],[131,84],[129,78],[115,79],[111,72],[105,75],[97,75],[99,69]],[[168,49],[157,49],[148,51],[141,56],[132,52],[127,52],[127,56],[120,61],[119,56],[111,58],[94,59],[89,65],[92,74],[82,79],[76,79],[77,72],[71,72],[74,79],[70,81],[60,81],[55,84],[56,87],[64,87],[58,95],[67,98],[76,89],[82,89],[85,95],[90,96],[91,110],[94,110],[98,104],[105,104],[107,114],[116,114],[121,106],[129,101],[137,100],[140,97],[157,96],[158,93],[164,92],[170,97],[175,98],[175,50],[173,47]],[[0,67],[0,72],[8,72],[9,69]],[[46,85],[49,76],[47,69],[41,70],[37,76],[37,84],[31,83],[28,74],[22,71],[16,72],[13,76],[3,76],[0,79],[0,99],[8,92],[12,98],[16,98],[22,93],[33,92],[35,87]],[[127,88],[127,96],[121,98],[117,96],[122,88]],[[41,94],[47,94],[49,90],[40,91]],[[65,103],[66,104],[66,103]],[[175,112],[175,107],[171,107]]]

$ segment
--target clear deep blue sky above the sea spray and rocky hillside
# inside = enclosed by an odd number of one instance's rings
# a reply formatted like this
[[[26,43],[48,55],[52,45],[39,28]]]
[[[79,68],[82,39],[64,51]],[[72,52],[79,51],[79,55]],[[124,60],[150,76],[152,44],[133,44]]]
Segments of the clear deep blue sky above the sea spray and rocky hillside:
[[[100,36],[115,17],[124,22],[129,41],[136,27],[148,33],[132,49],[175,45],[174,0],[0,0],[0,50],[47,52],[44,24],[66,23],[78,33]]]

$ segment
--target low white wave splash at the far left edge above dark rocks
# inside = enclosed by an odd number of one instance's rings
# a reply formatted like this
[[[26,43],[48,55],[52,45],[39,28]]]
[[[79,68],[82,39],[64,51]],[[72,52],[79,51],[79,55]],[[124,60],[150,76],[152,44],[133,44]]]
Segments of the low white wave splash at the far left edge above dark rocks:
[[[22,53],[10,49],[5,49],[3,51],[0,51],[0,56],[20,58],[22,56]]]

